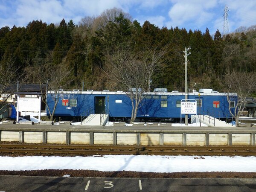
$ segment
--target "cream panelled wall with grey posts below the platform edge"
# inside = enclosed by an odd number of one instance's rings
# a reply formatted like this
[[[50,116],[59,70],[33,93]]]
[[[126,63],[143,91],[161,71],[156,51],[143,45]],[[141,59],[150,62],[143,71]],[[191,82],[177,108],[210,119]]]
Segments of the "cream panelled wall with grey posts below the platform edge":
[[[0,131],[0,141],[98,145],[253,145],[255,133],[119,133],[75,131]]]

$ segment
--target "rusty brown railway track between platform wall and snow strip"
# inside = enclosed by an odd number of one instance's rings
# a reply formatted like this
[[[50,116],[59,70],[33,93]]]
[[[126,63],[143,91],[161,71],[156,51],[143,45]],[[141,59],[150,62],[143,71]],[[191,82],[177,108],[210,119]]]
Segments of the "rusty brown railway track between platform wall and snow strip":
[[[134,155],[243,155],[256,156],[253,146],[128,146],[0,144],[1,153],[21,154],[134,154]]]

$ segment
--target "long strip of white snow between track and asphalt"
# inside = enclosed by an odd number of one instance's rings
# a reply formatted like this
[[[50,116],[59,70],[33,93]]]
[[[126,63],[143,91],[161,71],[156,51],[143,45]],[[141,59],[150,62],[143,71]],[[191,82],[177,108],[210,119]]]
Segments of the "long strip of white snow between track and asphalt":
[[[0,170],[89,169],[137,172],[256,172],[256,157],[104,155],[0,157]]]

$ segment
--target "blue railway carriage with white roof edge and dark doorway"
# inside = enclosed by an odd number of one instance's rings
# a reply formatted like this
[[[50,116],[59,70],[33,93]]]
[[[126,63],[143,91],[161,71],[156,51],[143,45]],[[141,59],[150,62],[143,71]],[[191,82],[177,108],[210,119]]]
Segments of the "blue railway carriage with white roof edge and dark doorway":
[[[50,91],[47,94],[47,103],[51,111],[54,108],[53,95]],[[79,122],[81,116],[87,116],[88,113],[102,113],[104,110],[109,114],[110,121],[128,122],[131,118],[131,99],[122,91],[60,91],[57,97],[59,101],[54,114],[57,119]],[[180,122],[180,101],[185,99],[185,93],[167,92],[164,89],[164,91],[145,92],[143,97],[137,111],[137,121]],[[230,97],[231,110],[234,110],[237,94],[231,93]],[[226,93],[202,89],[199,92],[188,93],[188,99],[197,101],[197,114],[219,119],[231,117]],[[184,118],[184,115],[182,117]]]

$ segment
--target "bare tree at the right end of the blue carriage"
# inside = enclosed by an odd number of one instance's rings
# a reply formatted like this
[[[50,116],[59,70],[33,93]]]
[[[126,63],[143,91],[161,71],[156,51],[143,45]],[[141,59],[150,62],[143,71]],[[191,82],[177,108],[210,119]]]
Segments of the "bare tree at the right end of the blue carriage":
[[[239,123],[239,116],[244,111],[245,105],[248,103],[246,99],[253,91],[256,90],[256,73],[227,72],[224,76],[224,82],[227,85],[227,101],[229,103],[230,114],[236,119],[236,125]],[[234,95],[237,93],[238,98],[234,100]],[[235,101],[235,106],[231,102]],[[232,110],[234,107],[234,110]]]

